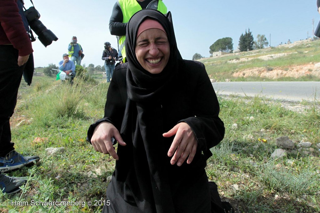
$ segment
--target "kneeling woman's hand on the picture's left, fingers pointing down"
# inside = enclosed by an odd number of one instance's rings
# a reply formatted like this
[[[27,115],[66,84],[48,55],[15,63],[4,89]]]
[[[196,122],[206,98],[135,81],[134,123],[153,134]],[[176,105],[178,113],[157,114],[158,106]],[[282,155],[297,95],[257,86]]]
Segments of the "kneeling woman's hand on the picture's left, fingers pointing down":
[[[116,127],[109,122],[100,123],[93,132],[91,144],[97,152],[110,154],[114,159],[119,160],[115,148],[112,146],[111,137],[115,137],[118,144],[125,146],[123,139]]]

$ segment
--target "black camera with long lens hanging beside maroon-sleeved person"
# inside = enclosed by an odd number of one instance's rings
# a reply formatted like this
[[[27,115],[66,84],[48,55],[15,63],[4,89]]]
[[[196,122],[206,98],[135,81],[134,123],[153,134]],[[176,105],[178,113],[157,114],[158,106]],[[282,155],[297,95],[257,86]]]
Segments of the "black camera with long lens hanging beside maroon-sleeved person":
[[[30,28],[38,35],[40,42],[47,47],[52,43],[52,41],[57,41],[58,37],[52,33],[51,30],[48,30],[44,24],[39,20],[40,13],[36,10],[35,7],[30,7],[28,10],[25,10],[25,15],[28,20]],[[35,41],[35,37],[31,35],[31,41]]]

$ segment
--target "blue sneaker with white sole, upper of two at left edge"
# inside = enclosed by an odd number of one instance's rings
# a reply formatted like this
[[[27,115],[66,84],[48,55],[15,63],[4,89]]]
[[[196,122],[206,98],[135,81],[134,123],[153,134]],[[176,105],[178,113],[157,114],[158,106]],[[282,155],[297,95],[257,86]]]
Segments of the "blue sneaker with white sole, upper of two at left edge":
[[[22,154],[11,151],[5,157],[0,157],[0,171],[9,171],[14,169],[19,169],[29,163],[38,161],[39,156],[23,156]]]

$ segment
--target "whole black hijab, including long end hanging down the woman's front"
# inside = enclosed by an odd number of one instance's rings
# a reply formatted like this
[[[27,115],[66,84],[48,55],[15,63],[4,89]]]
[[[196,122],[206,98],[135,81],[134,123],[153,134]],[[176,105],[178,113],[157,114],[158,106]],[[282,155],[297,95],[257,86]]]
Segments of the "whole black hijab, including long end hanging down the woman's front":
[[[137,31],[146,19],[156,20],[163,26],[170,44],[168,63],[159,74],[143,69],[135,55]],[[132,16],[127,25],[126,58],[128,99],[121,133],[132,140],[130,155],[134,170],[125,185],[130,187],[141,212],[174,212],[168,174],[171,165],[167,156],[172,139],[162,136],[168,129],[164,127],[161,103],[165,101],[164,94],[173,89],[183,60],[177,48],[170,12],[163,15],[156,10],[144,9]]]

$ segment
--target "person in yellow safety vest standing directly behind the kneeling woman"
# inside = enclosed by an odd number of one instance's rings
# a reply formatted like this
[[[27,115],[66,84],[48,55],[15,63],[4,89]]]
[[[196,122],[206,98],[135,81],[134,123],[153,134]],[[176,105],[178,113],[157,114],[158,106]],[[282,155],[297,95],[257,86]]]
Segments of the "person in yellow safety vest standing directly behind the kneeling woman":
[[[109,21],[111,35],[116,35],[119,40],[119,60],[125,62],[125,33],[127,22],[132,15],[146,8],[157,9],[161,13],[167,13],[167,7],[162,0],[118,0],[113,6]],[[122,56],[122,57],[121,57]]]

